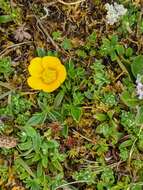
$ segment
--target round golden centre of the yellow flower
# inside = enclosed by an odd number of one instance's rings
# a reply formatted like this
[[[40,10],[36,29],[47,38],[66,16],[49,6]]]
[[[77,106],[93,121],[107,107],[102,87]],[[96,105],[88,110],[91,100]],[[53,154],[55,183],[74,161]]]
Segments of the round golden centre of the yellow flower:
[[[45,83],[52,83],[57,78],[57,72],[54,69],[46,69],[42,74],[42,79]]]

